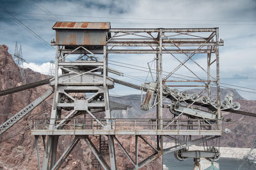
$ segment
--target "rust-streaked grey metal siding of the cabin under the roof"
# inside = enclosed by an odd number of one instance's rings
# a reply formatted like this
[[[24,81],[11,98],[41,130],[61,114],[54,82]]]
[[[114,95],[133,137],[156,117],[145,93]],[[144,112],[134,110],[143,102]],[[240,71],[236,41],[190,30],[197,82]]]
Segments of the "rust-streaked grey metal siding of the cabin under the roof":
[[[56,45],[106,45],[106,31],[56,29]]]

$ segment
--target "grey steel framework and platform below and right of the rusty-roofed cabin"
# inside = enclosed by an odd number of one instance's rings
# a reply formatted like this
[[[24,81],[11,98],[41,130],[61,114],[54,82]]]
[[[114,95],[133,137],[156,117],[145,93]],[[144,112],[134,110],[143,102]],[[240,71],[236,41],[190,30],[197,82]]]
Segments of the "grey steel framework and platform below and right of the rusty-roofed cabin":
[[[54,79],[51,80],[51,85],[54,87],[51,118],[48,120],[32,120],[31,125],[31,134],[36,137],[37,151],[38,137],[47,135],[42,169],[59,169],[65,158],[68,157],[68,154],[81,139],[92,150],[103,169],[116,169],[115,143],[124,151],[134,169],[140,169],[165,153],[220,137],[219,46],[223,45],[223,41],[219,39],[218,28],[107,29],[106,35],[108,35],[106,45],[98,45],[97,47],[91,47],[90,45],[57,45],[56,72]],[[76,56],[77,54],[80,56]],[[114,81],[108,77],[108,72],[111,70],[108,68],[108,54],[156,54],[154,59],[157,66],[157,86],[152,93],[156,97],[156,119],[118,120],[111,117],[108,89],[113,88]],[[178,61],[179,65],[164,77],[163,56],[166,54]],[[177,56],[180,54],[184,55],[184,60]],[[194,59],[196,54],[206,55],[206,68],[196,62]],[[72,58],[72,55],[76,56],[76,59]],[[69,57],[71,61],[68,61]],[[200,68],[200,72],[194,72],[193,68],[188,65],[189,62]],[[213,64],[215,65],[214,74],[211,72]],[[63,75],[59,75],[59,68]],[[173,79],[173,75],[180,68],[186,68],[193,77],[185,80]],[[205,73],[206,79],[201,78],[200,73],[202,72]],[[181,82],[181,84],[172,85],[170,82]],[[194,84],[182,84],[184,82]],[[214,104],[200,102],[197,99],[182,98],[180,94],[173,95],[171,92],[168,95],[164,91],[166,86],[199,86],[205,88],[203,91],[207,91],[207,97],[210,98],[212,84],[217,89]],[[132,84],[128,86],[138,88]],[[147,91],[147,86],[143,87],[143,91]],[[77,97],[76,93],[80,96]],[[83,96],[81,93],[86,95]],[[87,96],[89,93],[93,93],[92,96]],[[198,98],[202,97],[200,95]],[[170,98],[172,102],[179,101],[183,104],[183,107],[191,110],[184,111],[184,109],[180,110],[178,108],[178,111],[175,110],[178,115],[173,119],[166,120],[163,118],[164,98]],[[198,110],[193,107],[194,105],[209,108],[214,116],[212,118],[196,116]],[[97,116],[97,112],[105,112],[104,118]],[[193,114],[189,114],[189,112],[193,112]],[[124,125],[129,128],[124,128]],[[75,137],[56,161],[59,135],[74,135]],[[104,160],[100,150],[93,144],[92,135],[108,136],[109,162]],[[134,158],[122,146],[117,135],[134,135],[136,144]],[[156,136],[156,143],[150,143],[143,135]],[[180,141],[180,136],[187,137],[188,140]],[[141,161],[139,161],[138,154],[139,138],[147,144],[148,148],[154,151]],[[174,139],[176,141],[175,145],[171,148],[164,148],[164,138]],[[38,164],[41,169],[39,157]]]

